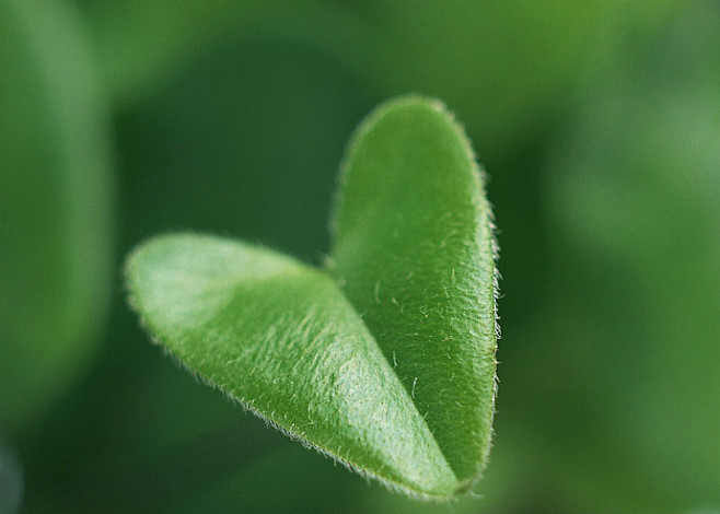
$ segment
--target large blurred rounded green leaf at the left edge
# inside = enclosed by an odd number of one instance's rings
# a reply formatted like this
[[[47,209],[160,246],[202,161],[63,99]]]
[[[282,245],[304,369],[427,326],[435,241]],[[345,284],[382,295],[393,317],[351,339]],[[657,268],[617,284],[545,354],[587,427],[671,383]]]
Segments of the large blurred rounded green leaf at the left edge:
[[[67,388],[106,318],[108,119],[74,14],[0,2],[0,430]]]

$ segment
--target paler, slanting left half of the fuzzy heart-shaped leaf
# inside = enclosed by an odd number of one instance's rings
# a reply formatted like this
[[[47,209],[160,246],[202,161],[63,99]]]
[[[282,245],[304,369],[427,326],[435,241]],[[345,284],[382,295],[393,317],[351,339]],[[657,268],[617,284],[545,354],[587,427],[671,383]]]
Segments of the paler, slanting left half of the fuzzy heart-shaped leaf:
[[[391,488],[456,489],[410,395],[327,273],[249,244],[169,235],[132,254],[127,281],[165,348],[288,435]]]

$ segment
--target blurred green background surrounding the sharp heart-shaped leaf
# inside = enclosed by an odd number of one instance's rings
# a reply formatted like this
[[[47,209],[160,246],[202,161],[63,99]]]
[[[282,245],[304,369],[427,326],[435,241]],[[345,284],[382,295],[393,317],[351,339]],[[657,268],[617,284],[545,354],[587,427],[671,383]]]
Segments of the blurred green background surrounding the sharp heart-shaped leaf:
[[[307,261],[378,103],[442,98],[501,245],[479,498],[368,484],[199,385],[121,260]],[[720,2],[0,0],[0,513],[720,509]]]

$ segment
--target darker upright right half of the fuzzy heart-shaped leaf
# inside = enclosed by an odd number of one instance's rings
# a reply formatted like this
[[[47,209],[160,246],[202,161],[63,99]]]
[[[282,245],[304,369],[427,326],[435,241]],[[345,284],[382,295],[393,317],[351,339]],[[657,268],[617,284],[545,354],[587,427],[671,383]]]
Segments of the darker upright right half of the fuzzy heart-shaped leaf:
[[[467,488],[490,446],[495,240],[462,128],[405,97],[359,128],[340,179],[333,272]]]

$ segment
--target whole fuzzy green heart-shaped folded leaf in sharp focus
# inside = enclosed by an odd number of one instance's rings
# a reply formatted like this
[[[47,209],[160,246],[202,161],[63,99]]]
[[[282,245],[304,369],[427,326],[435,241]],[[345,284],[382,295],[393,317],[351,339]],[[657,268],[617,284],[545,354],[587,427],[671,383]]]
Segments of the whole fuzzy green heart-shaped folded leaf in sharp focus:
[[[326,269],[209,235],[128,259],[132,304],[189,369],[282,432],[399,491],[449,499],[484,467],[495,240],[462,129],[404,97],[361,125]]]

